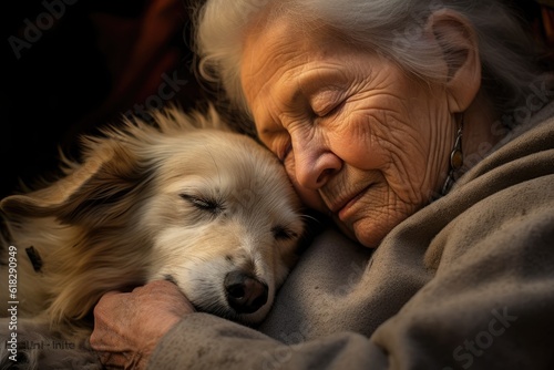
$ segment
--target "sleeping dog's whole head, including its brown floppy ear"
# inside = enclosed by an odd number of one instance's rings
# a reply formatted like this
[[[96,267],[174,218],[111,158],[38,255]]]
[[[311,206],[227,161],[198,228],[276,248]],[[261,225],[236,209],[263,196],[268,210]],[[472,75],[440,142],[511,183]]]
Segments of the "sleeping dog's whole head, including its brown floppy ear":
[[[102,290],[168,279],[198,310],[261,320],[305,228],[285,169],[214,112],[155,119],[157,129],[135,123],[90,140],[69,176],[6,198],[3,210],[20,224],[53,217],[82,232],[70,246],[82,253],[81,270],[58,299],[83,306],[72,316]]]

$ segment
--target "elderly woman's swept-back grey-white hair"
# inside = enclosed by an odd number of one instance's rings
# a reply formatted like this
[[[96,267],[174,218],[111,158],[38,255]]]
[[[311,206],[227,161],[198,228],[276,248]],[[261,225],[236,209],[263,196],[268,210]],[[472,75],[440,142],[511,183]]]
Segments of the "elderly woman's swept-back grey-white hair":
[[[270,11],[268,11],[268,9]],[[432,12],[451,9],[473,24],[482,63],[482,89],[500,113],[524,102],[542,78],[538,51],[520,21],[495,0],[207,0],[196,14],[199,74],[216,82],[249,115],[240,84],[245,33],[264,12],[326,24],[345,40],[371,48],[422,79],[444,81],[437,51],[421,37]]]

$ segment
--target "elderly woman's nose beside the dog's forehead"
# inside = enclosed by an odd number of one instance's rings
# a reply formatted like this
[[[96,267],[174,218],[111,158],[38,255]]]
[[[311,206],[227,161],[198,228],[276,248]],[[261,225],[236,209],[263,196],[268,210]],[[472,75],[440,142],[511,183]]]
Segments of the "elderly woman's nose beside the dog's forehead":
[[[322,141],[293,140],[295,177],[299,185],[308,189],[319,189],[340,171],[341,160]]]

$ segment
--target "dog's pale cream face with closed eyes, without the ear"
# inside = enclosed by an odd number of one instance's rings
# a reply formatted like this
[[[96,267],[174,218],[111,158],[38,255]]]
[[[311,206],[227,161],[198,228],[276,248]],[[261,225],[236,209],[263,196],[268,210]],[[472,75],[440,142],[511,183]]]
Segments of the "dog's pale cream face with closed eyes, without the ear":
[[[304,230],[283,166],[250,138],[216,131],[175,137],[162,152],[168,160],[143,217],[154,239],[150,279],[174,281],[198,310],[261,320]]]

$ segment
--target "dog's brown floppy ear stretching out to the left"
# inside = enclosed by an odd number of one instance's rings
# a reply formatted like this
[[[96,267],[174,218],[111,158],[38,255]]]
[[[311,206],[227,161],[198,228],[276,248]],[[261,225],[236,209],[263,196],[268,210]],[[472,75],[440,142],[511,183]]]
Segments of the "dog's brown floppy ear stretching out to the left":
[[[55,217],[63,224],[116,226],[148,178],[129,147],[104,142],[66,177],[30,194],[9,196],[0,208],[13,219]]]

